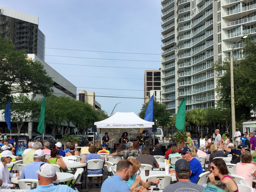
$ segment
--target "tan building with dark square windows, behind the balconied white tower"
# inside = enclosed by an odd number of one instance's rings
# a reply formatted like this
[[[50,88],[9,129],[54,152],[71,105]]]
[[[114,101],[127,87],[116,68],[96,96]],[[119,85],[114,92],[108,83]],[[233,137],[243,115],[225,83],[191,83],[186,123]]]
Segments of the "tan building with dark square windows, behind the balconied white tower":
[[[148,95],[151,90],[155,90],[155,91],[161,90],[161,71],[160,70],[145,70],[144,103],[148,101]]]

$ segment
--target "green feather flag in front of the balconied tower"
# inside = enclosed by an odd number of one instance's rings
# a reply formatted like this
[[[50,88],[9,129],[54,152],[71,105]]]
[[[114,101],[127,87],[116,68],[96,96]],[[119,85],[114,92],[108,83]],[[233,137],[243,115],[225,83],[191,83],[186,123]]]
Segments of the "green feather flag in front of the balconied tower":
[[[175,127],[181,132],[185,131],[186,99],[187,99],[187,96],[180,103],[178,112],[176,114]]]

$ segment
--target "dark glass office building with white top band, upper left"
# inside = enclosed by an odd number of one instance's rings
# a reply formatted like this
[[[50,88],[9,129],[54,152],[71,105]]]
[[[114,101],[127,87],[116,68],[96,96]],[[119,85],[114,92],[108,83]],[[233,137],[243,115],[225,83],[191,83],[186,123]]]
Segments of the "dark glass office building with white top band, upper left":
[[[0,6],[0,32],[10,39],[15,51],[25,50],[44,61],[45,35],[38,28],[38,17]]]

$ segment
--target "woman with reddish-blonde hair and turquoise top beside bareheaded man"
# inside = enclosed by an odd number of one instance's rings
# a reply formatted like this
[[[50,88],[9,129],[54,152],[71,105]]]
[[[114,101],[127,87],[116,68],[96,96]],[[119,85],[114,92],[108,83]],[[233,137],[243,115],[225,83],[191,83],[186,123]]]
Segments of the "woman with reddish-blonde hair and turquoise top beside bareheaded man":
[[[128,181],[125,181],[130,189],[136,188],[136,187],[144,187],[144,188],[149,188],[151,183],[156,183],[156,185],[159,184],[160,180],[151,180],[148,182],[144,182],[140,178],[140,162],[137,159],[134,158],[129,158],[127,159],[132,163],[132,176],[129,178]]]

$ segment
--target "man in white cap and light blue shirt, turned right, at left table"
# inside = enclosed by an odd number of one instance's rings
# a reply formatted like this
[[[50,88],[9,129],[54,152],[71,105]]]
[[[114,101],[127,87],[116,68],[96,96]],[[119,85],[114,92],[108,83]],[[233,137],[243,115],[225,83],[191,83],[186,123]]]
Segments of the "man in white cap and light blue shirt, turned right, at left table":
[[[37,179],[36,171],[39,169],[42,163],[49,163],[47,159],[45,159],[44,151],[42,149],[38,149],[33,153],[34,162],[23,167],[22,173],[20,175],[20,179]]]

